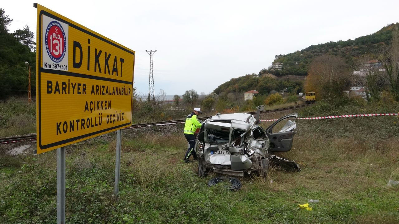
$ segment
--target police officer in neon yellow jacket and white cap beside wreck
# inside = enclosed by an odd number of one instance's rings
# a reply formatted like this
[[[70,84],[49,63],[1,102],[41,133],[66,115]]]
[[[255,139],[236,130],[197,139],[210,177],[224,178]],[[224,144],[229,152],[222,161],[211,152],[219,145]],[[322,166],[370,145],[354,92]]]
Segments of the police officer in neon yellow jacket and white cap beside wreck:
[[[197,120],[198,114],[202,114],[201,108],[194,108],[193,112],[186,117],[186,124],[184,124],[184,137],[186,137],[190,147],[184,156],[184,162],[190,163],[190,155],[193,154],[193,158],[196,159],[196,152],[194,151],[195,145],[195,136],[194,132],[196,132],[197,128],[201,127],[201,123]]]

